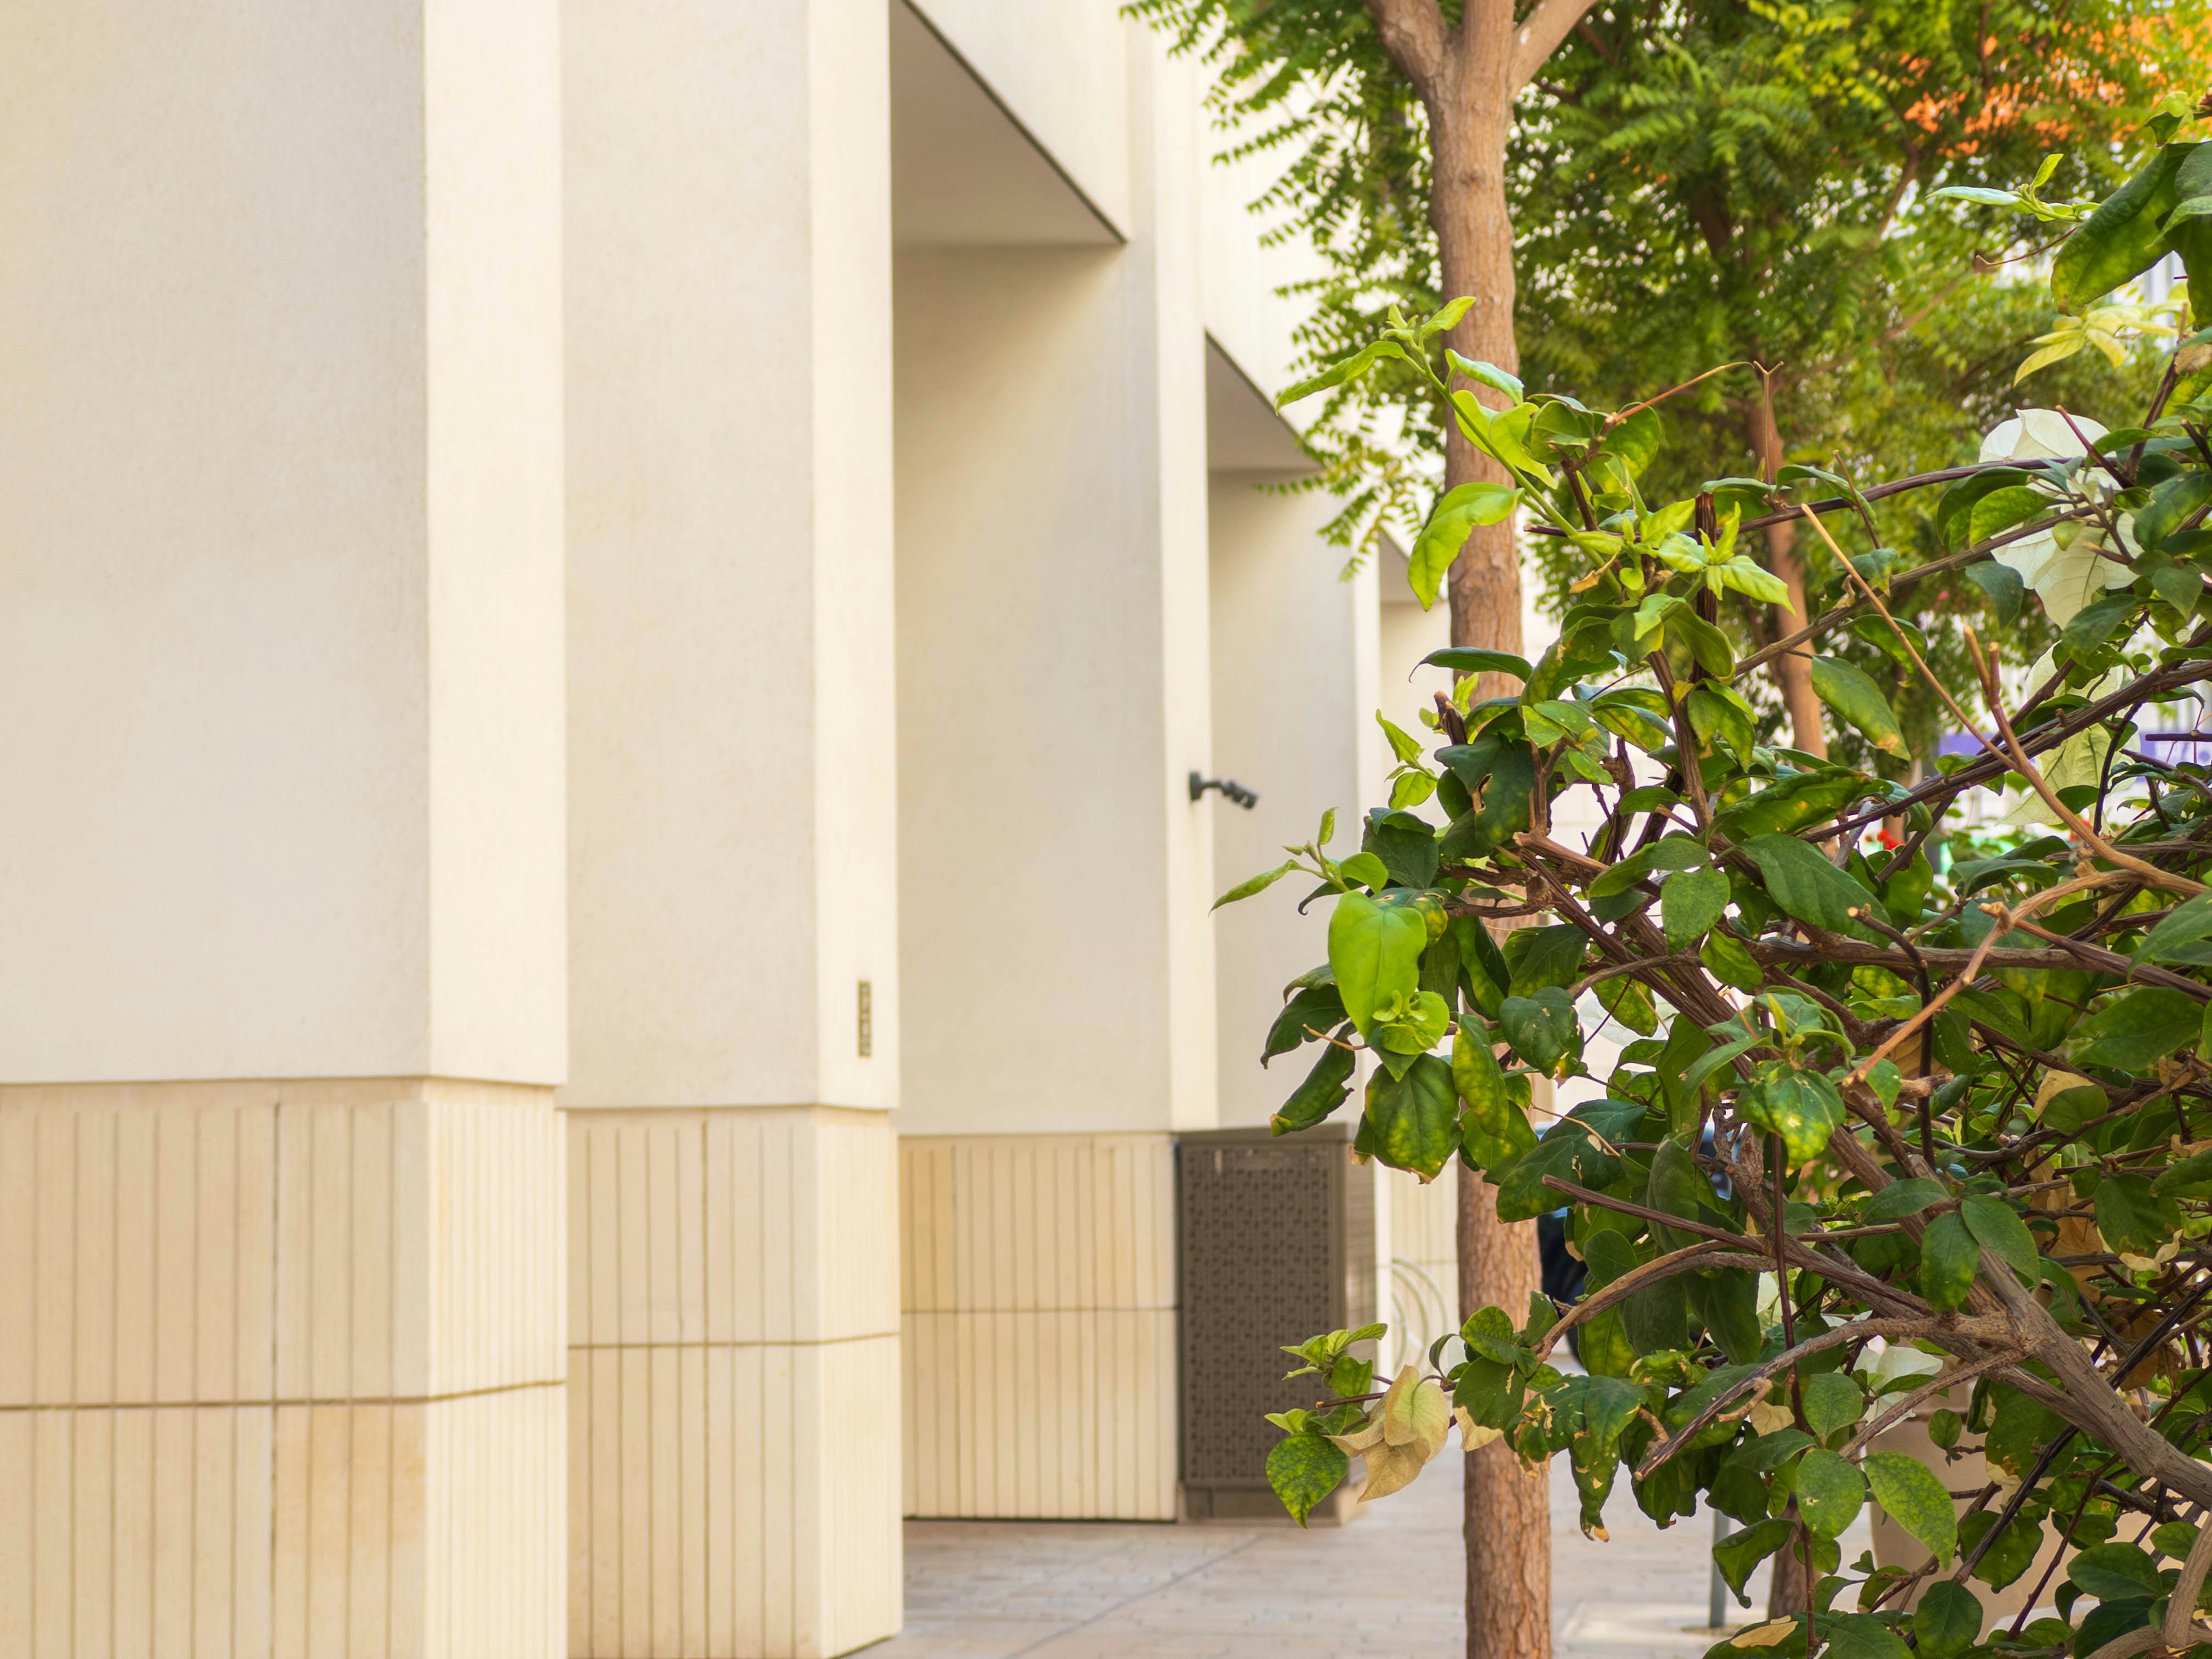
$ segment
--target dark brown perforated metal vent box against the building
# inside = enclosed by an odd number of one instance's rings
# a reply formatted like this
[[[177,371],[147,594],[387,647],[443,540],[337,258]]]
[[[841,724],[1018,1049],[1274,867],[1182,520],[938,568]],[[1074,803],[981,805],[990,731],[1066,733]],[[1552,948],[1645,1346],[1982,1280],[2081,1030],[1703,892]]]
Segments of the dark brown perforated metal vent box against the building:
[[[1283,1380],[1283,1345],[1374,1318],[1374,1172],[1340,1130],[1186,1135],[1177,1161],[1183,1486],[1212,1513],[1212,1489],[1265,1491],[1263,1413],[1316,1398],[1316,1378]]]

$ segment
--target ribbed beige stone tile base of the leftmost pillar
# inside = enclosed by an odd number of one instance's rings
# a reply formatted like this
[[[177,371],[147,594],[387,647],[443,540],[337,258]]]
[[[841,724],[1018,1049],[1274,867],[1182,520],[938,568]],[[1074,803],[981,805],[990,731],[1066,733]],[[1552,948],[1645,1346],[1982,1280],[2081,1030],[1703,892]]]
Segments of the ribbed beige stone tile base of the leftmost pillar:
[[[540,1088],[0,1091],[0,1652],[549,1659],[560,1181]]]

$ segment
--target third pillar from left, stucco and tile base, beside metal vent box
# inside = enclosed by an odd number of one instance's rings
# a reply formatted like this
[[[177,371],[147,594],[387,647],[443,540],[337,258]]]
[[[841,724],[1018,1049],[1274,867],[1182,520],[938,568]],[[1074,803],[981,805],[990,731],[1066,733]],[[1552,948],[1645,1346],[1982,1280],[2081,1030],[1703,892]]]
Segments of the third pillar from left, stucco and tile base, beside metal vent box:
[[[1126,73],[1097,119],[1060,126],[1121,133],[1126,223],[1040,217],[980,243],[900,219],[898,1128],[922,1515],[1175,1517],[1172,1135],[1214,1121],[1214,807],[1188,794],[1208,765],[1192,155],[1164,133],[1199,117],[1161,106],[1139,24],[1084,15]],[[1018,88],[993,91],[1022,115]],[[1073,177],[1093,204],[1124,195]]]

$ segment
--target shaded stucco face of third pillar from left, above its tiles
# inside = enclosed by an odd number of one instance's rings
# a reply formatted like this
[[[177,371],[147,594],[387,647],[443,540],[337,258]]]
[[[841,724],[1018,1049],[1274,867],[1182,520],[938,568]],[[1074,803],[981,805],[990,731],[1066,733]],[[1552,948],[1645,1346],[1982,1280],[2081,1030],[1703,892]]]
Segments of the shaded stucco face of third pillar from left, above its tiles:
[[[1128,276],[1119,252],[900,259],[900,1133],[1168,1124],[1175,803]]]

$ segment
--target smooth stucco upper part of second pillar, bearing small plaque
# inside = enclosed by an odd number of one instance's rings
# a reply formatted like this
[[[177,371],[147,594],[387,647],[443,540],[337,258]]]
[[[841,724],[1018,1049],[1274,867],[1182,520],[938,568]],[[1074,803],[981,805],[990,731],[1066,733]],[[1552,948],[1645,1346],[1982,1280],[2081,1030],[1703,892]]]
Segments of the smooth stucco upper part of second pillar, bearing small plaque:
[[[885,31],[568,7],[568,1104],[896,1099]]]

